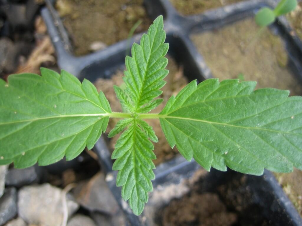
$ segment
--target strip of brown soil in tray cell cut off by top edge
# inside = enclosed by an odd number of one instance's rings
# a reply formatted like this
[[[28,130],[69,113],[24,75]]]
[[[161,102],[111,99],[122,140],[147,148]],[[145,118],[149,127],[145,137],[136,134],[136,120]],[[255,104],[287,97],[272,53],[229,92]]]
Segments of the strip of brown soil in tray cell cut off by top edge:
[[[208,9],[219,8],[243,0],[170,0],[176,10],[186,16],[202,13]]]

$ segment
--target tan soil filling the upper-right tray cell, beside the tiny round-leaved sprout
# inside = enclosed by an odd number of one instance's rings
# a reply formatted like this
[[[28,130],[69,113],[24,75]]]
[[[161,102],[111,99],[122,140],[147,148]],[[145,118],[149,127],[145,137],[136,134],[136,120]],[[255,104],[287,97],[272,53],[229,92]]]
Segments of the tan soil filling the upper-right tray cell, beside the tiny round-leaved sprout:
[[[253,18],[191,36],[213,76],[257,81],[256,88],[272,87],[301,95],[302,86],[288,68],[288,55],[279,36],[259,27]]]

